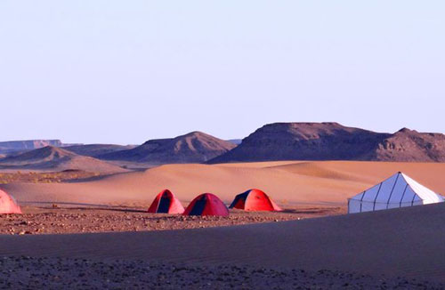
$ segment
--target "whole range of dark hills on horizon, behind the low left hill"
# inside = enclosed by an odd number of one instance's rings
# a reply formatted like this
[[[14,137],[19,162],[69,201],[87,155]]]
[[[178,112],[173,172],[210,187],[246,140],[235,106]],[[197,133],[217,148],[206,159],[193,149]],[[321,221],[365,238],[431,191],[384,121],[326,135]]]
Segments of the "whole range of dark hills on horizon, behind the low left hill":
[[[45,146],[63,148],[79,156],[114,160],[129,168],[279,160],[445,162],[442,133],[419,133],[408,128],[396,133],[376,133],[335,122],[263,125],[242,141],[223,141],[201,132],[150,140],[140,146],[64,144],[60,140],[4,141],[0,142],[0,161]]]

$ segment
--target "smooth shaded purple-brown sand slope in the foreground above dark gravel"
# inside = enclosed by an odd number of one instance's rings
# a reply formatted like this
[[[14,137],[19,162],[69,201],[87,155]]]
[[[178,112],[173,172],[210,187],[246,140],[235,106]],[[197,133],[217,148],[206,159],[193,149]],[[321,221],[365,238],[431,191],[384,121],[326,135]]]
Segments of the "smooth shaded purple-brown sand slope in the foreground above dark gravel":
[[[444,282],[444,219],[445,204],[439,204],[197,230],[0,236],[0,254],[344,270]]]

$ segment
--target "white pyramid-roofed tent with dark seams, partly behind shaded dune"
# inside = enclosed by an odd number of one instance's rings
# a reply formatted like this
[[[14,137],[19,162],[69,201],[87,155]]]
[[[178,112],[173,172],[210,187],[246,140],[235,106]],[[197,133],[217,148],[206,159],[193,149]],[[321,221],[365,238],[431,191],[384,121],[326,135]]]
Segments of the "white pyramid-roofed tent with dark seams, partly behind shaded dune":
[[[379,211],[412,205],[428,205],[445,201],[431,189],[409,178],[404,173],[395,173],[385,181],[348,199],[348,213]]]

